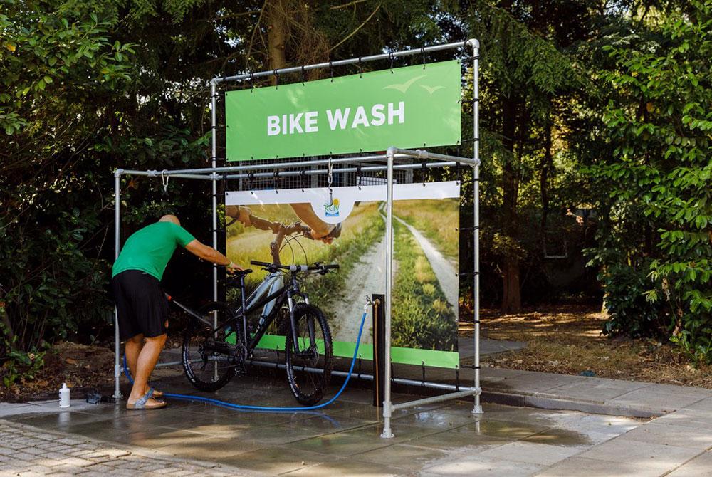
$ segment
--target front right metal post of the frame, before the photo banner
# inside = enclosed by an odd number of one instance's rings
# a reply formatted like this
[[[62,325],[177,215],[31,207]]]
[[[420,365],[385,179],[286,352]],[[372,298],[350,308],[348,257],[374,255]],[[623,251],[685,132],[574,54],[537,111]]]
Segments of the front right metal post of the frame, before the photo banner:
[[[386,184],[386,303],[384,309],[385,341],[384,365],[384,402],[383,402],[383,432],[381,437],[391,439],[391,293],[393,290],[393,156],[395,148],[389,147],[386,152],[388,173]]]

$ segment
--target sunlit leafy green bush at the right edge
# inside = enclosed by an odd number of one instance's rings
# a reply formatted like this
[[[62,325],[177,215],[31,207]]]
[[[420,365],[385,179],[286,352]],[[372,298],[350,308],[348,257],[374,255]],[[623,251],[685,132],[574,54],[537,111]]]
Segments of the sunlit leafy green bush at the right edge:
[[[604,110],[613,157],[587,169],[613,204],[598,258],[604,273],[646,265],[648,289],[633,282],[649,303],[614,298],[614,320],[641,313],[641,323],[613,328],[638,334],[655,311],[683,350],[711,362],[712,1],[690,2],[654,33],[644,46],[605,48],[616,65],[601,75],[613,91]],[[626,214],[634,219],[619,220]],[[619,286],[604,281],[612,298]]]

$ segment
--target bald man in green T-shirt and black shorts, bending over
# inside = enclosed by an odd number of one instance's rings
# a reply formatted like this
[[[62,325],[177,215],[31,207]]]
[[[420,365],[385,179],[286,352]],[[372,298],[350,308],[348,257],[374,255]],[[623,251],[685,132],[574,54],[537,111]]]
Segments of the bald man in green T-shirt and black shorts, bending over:
[[[111,274],[119,335],[126,342],[126,361],[134,378],[127,409],[159,409],[167,405],[155,399],[163,394],[152,389],[148,380],[166,342],[168,302],[161,279],[177,246],[226,266],[229,272],[241,270],[219,251],[197,241],[174,215],[162,216],[127,239]]]

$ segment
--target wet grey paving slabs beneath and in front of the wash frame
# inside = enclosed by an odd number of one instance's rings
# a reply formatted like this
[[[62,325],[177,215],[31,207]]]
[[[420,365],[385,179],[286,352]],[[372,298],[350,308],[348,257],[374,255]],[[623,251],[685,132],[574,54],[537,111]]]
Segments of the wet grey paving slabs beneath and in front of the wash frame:
[[[195,393],[184,377],[162,374],[156,383],[160,389]],[[243,404],[295,405],[286,382],[277,377],[234,379],[219,392],[205,395]],[[394,402],[411,399],[417,397],[394,394]],[[157,411],[79,401],[66,410],[58,409],[56,402],[0,404],[0,419],[32,426],[26,430],[38,428],[165,458],[219,464],[222,471],[241,468],[295,476],[528,476],[587,453],[588,460],[598,463],[597,446],[645,423],[498,404],[487,404],[486,414],[474,416],[471,402],[446,402],[396,412],[395,437],[382,439],[380,410],[371,402],[369,389],[347,389],[318,412],[278,414],[184,401],[172,401]]]

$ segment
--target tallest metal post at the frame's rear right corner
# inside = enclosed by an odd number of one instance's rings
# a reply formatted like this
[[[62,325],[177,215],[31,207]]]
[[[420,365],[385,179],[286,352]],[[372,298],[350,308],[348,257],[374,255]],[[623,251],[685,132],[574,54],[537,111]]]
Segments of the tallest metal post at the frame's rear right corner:
[[[467,42],[472,46],[473,65],[472,65],[472,114],[473,114],[473,158],[477,164],[472,169],[472,194],[473,194],[473,301],[474,301],[474,325],[475,325],[475,405],[472,409],[473,414],[483,414],[482,405],[480,404],[480,91],[479,91],[479,67],[480,67],[480,43],[472,39]]]

